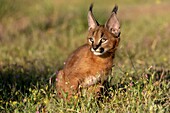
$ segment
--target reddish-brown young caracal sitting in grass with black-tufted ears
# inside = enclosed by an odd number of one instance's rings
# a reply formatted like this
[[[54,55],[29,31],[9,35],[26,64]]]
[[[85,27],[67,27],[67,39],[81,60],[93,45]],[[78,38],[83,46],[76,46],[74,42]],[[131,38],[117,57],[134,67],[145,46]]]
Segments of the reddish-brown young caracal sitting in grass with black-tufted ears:
[[[59,97],[67,94],[69,99],[73,94],[78,94],[81,88],[91,89],[94,86],[94,93],[100,93],[112,69],[120,41],[120,24],[116,16],[118,6],[113,8],[105,25],[96,21],[92,8],[93,5],[88,12],[87,43],[68,57],[63,70],[57,74],[56,88]]]

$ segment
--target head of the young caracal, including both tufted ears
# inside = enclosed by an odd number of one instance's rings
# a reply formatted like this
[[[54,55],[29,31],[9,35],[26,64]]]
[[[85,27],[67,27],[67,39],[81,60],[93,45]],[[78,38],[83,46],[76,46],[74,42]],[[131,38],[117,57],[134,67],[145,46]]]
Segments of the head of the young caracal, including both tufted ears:
[[[95,55],[103,55],[105,53],[114,52],[120,40],[120,24],[117,19],[118,6],[113,8],[111,16],[105,25],[99,25],[92,13],[93,5],[90,6],[88,12],[88,36],[87,42],[91,51]]]

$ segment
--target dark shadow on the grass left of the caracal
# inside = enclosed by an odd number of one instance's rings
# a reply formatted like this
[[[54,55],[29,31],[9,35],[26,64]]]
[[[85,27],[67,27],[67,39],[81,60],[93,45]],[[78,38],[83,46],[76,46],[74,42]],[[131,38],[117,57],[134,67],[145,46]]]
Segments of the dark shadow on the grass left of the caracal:
[[[53,73],[54,71],[49,66],[35,65],[32,62],[24,66],[18,64],[1,66],[1,102],[18,101],[24,96],[29,96],[30,88],[40,88],[49,85],[49,78]]]

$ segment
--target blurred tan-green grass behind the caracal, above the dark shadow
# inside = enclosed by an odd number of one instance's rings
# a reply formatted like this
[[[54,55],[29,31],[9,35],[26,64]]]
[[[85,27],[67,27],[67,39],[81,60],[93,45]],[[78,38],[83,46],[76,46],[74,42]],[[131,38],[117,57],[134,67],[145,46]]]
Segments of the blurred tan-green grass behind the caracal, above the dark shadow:
[[[86,41],[86,14],[90,3],[73,0],[68,5],[67,1],[1,0],[0,64],[22,64],[36,59],[60,67],[68,54]],[[148,61],[150,64],[167,64],[169,52],[164,47],[169,48],[168,0],[94,3],[94,15],[102,24],[114,4],[119,5],[120,52],[129,49],[144,64]],[[117,58],[125,57],[123,54]],[[140,54],[150,57],[139,58]]]

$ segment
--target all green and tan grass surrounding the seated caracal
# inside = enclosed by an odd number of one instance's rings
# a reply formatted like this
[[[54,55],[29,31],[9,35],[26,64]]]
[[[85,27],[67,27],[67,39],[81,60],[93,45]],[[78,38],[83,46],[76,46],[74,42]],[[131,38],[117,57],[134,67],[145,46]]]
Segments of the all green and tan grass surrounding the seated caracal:
[[[115,3],[122,34],[108,94],[67,103],[56,97],[55,72],[86,42],[90,2],[1,0],[0,111],[170,112],[170,2],[94,1],[99,23]]]

